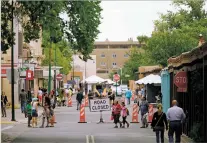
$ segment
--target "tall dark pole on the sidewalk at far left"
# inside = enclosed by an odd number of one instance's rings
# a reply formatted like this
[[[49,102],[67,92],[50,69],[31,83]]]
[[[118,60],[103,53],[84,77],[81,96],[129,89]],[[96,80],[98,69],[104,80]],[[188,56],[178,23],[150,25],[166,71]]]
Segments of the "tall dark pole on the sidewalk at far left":
[[[13,33],[13,19],[14,19],[14,7],[13,7],[13,0],[12,0],[12,20],[11,20],[11,31]],[[14,44],[11,47],[11,100],[12,100],[12,119],[11,121],[15,120],[15,110],[14,110]]]

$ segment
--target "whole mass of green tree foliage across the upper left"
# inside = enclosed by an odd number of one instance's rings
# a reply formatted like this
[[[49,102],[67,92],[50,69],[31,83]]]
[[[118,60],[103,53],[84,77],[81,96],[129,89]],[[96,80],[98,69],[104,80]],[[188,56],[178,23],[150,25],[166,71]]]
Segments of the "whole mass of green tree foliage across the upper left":
[[[49,31],[53,43],[58,43],[66,36],[74,50],[83,54],[87,60],[93,50],[93,43],[99,31],[101,18],[100,1],[17,1],[13,6],[2,1],[1,9],[1,45],[5,51],[14,44],[14,34],[9,23],[12,20],[11,9],[22,24],[24,40],[39,39],[40,30]],[[69,21],[60,18],[66,12]],[[6,34],[5,34],[6,33]],[[48,40],[48,39],[47,39]]]

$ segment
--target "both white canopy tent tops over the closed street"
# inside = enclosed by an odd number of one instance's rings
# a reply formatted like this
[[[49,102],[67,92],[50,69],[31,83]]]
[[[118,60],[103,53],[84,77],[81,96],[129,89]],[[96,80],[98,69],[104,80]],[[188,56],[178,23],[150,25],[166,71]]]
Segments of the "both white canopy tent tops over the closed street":
[[[96,75],[92,75],[86,79],[84,79],[81,83],[87,84],[97,84],[97,83],[106,83],[106,84],[115,84],[111,79],[103,79]],[[161,77],[159,75],[150,74],[140,80],[135,82],[136,84],[160,84]]]

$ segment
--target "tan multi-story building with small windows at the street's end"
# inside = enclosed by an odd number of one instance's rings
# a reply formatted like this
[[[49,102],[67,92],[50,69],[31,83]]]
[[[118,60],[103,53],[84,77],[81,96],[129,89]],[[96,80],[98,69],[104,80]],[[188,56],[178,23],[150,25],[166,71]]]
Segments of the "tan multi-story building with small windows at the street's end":
[[[128,41],[106,41],[95,42],[93,55],[96,55],[96,75],[104,79],[109,78],[109,73],[123,68],[129,59],[130,48],[140,48],[138,41],[131,38]]]

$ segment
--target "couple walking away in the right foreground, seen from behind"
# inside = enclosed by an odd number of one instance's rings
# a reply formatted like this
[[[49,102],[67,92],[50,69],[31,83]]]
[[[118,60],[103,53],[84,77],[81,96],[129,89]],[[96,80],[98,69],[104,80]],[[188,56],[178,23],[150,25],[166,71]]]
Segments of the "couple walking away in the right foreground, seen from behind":
[[[186,116],[182,108],[177,106],[177,101],[172,101],[172,107],[168,109],[165,114],[162,111],[162,104],[157,105],[157,112],[154,113],[152,118],[151,127],[156,134],[156,142],[164,143],[164,132],[168,130],[169,143],[174,143],[174,133],[175,142],[181,142],[182,135],[182,123],[184,122]]]

